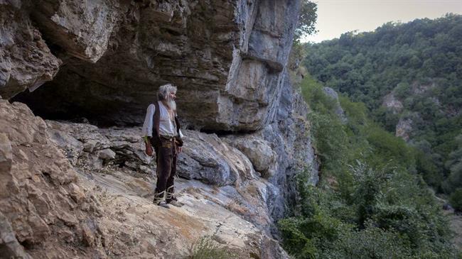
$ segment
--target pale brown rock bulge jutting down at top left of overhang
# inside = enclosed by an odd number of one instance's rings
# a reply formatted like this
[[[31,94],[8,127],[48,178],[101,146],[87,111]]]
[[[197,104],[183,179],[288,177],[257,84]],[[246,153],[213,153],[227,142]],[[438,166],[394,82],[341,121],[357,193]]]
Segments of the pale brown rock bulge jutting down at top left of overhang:
[[[41,32],[65,53],[97,62],[107,50],[117,26],[119,1],[34,1],[33,20]]]

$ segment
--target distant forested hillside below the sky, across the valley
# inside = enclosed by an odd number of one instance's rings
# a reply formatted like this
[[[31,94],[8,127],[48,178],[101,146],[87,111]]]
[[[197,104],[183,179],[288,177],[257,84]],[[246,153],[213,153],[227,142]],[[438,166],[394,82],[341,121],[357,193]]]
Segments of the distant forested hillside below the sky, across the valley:
[[[412,161],[417,171],[451,194],[462,187],[461,42],[462,16],[385,23],[374,32],[306,44],[303,65],[327,87],[363,102],[387,131],[407,122],[409,129],[398,128],[419,149]]]

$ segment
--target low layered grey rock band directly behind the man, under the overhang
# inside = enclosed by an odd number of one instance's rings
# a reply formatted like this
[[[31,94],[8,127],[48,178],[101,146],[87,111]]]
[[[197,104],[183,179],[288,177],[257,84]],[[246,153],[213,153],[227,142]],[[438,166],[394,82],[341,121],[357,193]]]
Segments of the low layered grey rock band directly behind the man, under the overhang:
[[[72,165],[85,163],[87,170],[100,170],[110,161],[149,174],[156,171],[156,158],[144,154],[141,128],[100,129],[90,124],[46,122],[50,139],[63,149]],[[183,133],[185,145],[178,158],[181,177],[218,186],[256,177],[249,159],[215,134]]]

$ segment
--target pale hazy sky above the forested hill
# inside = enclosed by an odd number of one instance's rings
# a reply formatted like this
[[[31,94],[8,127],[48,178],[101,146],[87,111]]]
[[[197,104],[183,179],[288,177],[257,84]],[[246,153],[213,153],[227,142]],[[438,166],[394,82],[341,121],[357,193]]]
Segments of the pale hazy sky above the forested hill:
[[[316,35],[303,41],[321,42],[347,31],[374,31],[388,21],[438,18],[462,14],[462,0],[314,0],[318,4]]]

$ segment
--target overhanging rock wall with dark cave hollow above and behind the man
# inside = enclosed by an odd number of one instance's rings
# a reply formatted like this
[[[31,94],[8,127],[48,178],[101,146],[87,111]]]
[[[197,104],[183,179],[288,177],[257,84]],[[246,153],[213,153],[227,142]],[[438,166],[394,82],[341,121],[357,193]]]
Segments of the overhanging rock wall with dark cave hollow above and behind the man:
[[[139,124],[161,84],[189,128],[255,131],[274,119],[299,1],[39,1],[31,17],[63,60],[21,94],[38,114]]]

